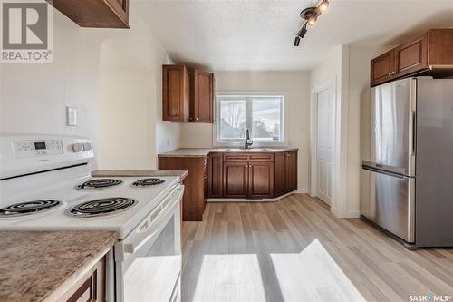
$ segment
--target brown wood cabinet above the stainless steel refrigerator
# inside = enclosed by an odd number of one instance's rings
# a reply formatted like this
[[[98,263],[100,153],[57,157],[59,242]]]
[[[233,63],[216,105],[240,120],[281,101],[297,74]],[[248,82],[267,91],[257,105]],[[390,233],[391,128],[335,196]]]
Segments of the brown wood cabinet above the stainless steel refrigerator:
[[[371,60],[371,87],[440,69],[453,74],[453,29],[429,29]]]

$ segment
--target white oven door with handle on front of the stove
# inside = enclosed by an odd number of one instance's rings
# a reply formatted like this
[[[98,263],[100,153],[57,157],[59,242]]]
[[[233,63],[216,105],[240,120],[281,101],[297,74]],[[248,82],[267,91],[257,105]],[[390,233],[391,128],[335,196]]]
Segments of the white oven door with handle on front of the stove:
[[[180,301],[179,185],[115,245],[117,302]]]

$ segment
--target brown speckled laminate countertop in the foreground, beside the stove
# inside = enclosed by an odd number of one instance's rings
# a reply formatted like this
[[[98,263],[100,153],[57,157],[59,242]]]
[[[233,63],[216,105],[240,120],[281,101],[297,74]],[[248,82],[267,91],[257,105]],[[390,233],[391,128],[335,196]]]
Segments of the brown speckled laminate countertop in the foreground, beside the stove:
[[[0,231],[0,301],[55,301],[116,239],[109,231]]]

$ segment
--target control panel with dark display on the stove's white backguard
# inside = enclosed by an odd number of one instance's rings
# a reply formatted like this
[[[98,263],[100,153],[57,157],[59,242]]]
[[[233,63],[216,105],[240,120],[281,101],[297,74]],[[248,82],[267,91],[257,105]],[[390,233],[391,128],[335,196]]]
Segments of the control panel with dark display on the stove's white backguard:
[[[63,154],[63,143],[59,140],[13,141],[13,148],[16,159]]]

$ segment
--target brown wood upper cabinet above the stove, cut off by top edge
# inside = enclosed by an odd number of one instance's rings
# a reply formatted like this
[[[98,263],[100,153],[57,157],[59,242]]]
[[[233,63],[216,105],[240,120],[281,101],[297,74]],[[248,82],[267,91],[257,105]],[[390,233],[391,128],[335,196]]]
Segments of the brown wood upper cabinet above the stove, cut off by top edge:
[[[48,0],[81,27],[129,28],[129,0]]]

